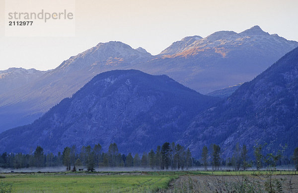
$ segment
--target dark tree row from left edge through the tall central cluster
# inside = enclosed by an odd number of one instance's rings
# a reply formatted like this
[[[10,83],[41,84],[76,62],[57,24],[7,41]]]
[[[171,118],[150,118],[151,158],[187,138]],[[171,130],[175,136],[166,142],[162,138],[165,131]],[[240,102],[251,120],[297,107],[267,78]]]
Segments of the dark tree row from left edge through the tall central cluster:
[[[156,150],[138,153],[134,156],[129,153],[121,154],[116,143],[110,144],[108,151],[103,152],[100,144],[83,146],[80,151],[75,146],[66,147],[63,153],[44,154],[43,148],[38,146],[32,154],[7,154],[0,156],[0,167],[3,168],[29,168],[29,167],[55,167],[66,166],[67,170],[75,171],[78,167],[86,167],[93,171],[95,167],[143,167],[152,169],[184,169],[199,166],[200,163],[192,158],[189,149],[175,143],[164,143]]]

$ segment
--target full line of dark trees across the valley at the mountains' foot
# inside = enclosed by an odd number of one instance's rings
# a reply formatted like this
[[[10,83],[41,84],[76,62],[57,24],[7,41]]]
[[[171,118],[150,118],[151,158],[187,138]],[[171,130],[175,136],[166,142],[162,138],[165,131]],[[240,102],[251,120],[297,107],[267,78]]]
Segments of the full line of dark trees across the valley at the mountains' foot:
[[[108,151],[103,152],[100,144],[93,148],[88,146],[81,147],[80,151],[75,146],[65,147],[64,151],[45,154],[42,147],[38,146],[31,154],[14,154],[6,152],[0,156],[1,168],[29,168],[29,167],[59,167],[66,166],[67,171],[76,171],[78,168],[87,168],[94,171],[96,167],[142,167],[157,170],[172,169],[184,170],[191,167],[203,166],[208,170],[212,166],[213,170],[219,170],[221,166],[227,166],[234,170],[246,170],[255,167],[260,170],[264,167],[275,167],[282,164],[294,164],[298,170],[298,147],[295,149],[292,160],[283,158],[283,147],[276,153],[264,153],[266,144],[255,145],[253,147],[254,159],[249,160],[246,145],[235,145],[231,157],[222,159],[221,147],[212,144],[209,149],[204,146],[201,159],[196,160],[192,157],[190,150],[180,144],[165,142],[157,146],[155,151],[151,149],[144,152],[142,156],[138,153],[132,155],[121,154],[116,143],[111,143]]]

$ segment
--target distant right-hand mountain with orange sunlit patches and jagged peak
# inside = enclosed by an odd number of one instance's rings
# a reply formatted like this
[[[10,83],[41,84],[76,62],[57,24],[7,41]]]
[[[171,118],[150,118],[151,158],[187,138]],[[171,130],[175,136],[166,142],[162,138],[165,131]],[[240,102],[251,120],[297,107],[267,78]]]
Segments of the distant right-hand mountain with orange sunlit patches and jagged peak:
[[[259,26],[187,40],[174,42],[160,58],[150,61],[150,73],[162,72],[203,94],[252,80],[298,46],[298,42],[270,35]]]

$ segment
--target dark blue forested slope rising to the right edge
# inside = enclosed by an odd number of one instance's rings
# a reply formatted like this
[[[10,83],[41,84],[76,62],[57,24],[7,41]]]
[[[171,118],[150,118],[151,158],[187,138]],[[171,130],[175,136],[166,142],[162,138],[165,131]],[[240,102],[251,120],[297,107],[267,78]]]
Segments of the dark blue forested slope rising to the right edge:
[[[236,143],[268,144],[271,152],[287,144],[285,155],[298,146],[298,48],[286,54],[254,80],[241,85],[230,97],[190,124],[180,143],[196,155],[204,145],[222,146],[231,156]]]

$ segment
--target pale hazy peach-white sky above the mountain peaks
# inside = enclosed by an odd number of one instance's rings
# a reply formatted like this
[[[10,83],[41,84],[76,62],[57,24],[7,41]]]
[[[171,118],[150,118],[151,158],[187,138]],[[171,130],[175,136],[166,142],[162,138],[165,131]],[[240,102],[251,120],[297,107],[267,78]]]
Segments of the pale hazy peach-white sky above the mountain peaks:
[[[5,37],[4,0],[0,7],[0,70],[53,69],[107,41],[155,55],[185,36],[254,25],[298,41],[298,0],[75,0],[74,37]]]

